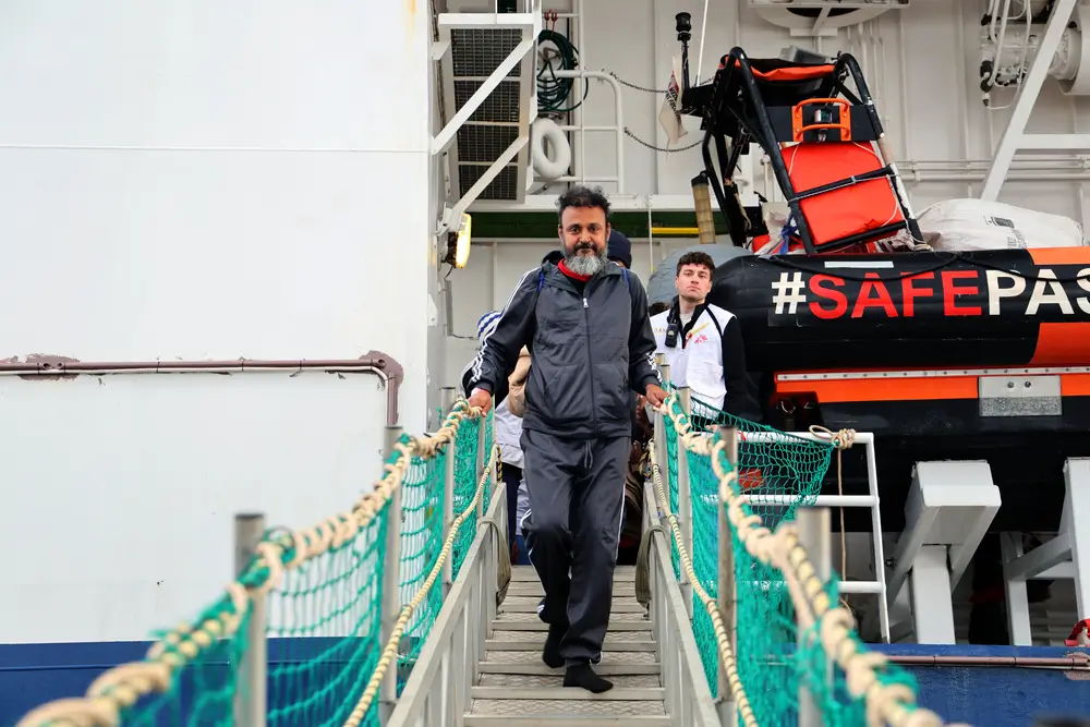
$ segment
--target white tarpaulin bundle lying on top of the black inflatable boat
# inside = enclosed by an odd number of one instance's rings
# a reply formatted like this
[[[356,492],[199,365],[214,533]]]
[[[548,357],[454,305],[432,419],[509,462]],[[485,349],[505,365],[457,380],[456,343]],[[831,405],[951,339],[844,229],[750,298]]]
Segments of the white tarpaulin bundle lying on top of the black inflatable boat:
[[[1068,217],[1001,202],[947,199],[924,209],[918,221],[924,242],[944,252],[1088,244],[1082,226]]]

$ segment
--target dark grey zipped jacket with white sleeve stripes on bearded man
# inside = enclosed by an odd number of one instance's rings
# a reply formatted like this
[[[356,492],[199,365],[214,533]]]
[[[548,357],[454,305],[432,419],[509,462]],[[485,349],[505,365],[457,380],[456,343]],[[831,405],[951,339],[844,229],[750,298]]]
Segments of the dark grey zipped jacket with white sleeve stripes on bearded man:
[[[525,429],[557,437],[629,437],[632,397],[662,385],[647,294],[635,274],[607,264],[580,292],[545,263],[522,276],[496,330],[470,367],[467,388],[495,393],[526,346]]]

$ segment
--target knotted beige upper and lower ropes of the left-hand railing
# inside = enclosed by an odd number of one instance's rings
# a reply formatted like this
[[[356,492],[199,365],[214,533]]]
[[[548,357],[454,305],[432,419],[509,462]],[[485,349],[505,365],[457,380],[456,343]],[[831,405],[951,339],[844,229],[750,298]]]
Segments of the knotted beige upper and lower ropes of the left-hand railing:
[[[138,700],[153,693],[168,691],[177,680],[178,673],[186,665],[202,656],[217,641],[234,635],[250,615],[254,596],[264,595],[276,589],[289,570],[294,570],[304,562],[343,545],[371,525],[383,508],[389,504],[393,493],[401,487],[414,456],[422,459],[435,458],[437,452],[455,441],[462,421],[480,419],[483,415],[483,410],[470,407],[462,399],[455,403],[443,426],[434,435],[428,437],[402,435],[395,444],[395,453],[383,465],[383,477],[375,483],[372,492],[355,502],[351,510],[327,518],[310,529],[266,536],[266,540],[257,546],[255,557],[249,567],[238,579],[227,584],[220,597],[195,622],[180,623],[162,634],[148,649],[143,661],[121,664],[102,674],[87,688],[83,698],[62,699],[43,704],[24,715],[15,727],[117,727],[121,724],[124,712]],[[497,457],[498,449],[494,447],[489,467],[495,464]],[[477,494],[474,496],[472,507],[476,506],[482,496],[482,487],[488,474],[486,468],[477,484]],[[412,610],[423,601],[421,594],[426,595],[434,583],[436,569],[441,572],[444,559],[448,557],[452,547],[452,538],[467,516],[468,513],[462,513],[452,524],[437,567],[433,569],[413,602],[402,609],[390,641],[393,641],[395,635],[400,640]],[[397,642],[393,649],[396,652]],[[387,644],[388,650],[389,644]],[[386,651],[384,651],[385,657]],[[389,659],[380,665],[383,675],[388,663]],[[374,677],[372,681],[375,681]],[[382,675],[376,683],[380,682]],[[371,689],[371,682],[367,689]],[[368,696],[365,690],[361,696],[361,704],[364,699],[373,698],[374,695]],[[352,724],[351,717],[348,724]]]

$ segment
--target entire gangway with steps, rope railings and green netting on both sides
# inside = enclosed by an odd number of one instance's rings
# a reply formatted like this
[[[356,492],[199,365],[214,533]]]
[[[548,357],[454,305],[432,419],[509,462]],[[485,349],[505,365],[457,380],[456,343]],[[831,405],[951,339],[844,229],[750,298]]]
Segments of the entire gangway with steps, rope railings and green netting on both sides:
[[[349,509],[294,530],[246,529],[237,578],[194,620],[143,658],[106,670],[83,695],[32,710],[19,727],[159,716],[240,727],[299,718],[344,727],[767,727],[834,714],[855,715],[840,724],[862,725],[865,714],[870,725],[942,727],[917,706],[911,678],[869,652],[836,602],[827,510],[764,521],[741,485],[738,429],[695,432],[679,399],[671,392],[655,412],[661,439],[649,450],[638,565],[615,573],[598,667],[616,680],[609,692],[565,689],[559,670],[541,664],[541,585],[510,566],[491,417],[459,400],[435,434],[387,427],[384,474]],[[699,485],[682,498],[688,510],[673,497],[687,488],[682,461]],[[736,589],[750,572],[786,594]],[[328,597],[306,599],[318,592]],[[836,690],[814,688],[834,677]],[[293,687],[302,683],[323,688]]]

